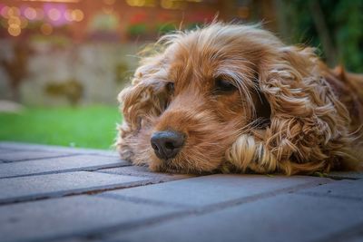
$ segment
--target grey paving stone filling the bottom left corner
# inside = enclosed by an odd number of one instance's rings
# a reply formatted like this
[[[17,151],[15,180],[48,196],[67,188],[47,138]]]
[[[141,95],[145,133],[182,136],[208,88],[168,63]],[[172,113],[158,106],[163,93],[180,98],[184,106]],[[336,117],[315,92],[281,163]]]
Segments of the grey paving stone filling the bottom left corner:
[[[1,206],[0,235],[2,242],[64,241],[62,237],[131,227],[176,210],[93,196],[54,198]]]

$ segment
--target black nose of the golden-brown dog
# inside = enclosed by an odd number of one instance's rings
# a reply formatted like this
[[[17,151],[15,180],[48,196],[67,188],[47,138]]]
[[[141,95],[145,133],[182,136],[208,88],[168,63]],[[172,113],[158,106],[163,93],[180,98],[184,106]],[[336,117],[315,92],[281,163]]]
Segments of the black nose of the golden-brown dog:
[[[184,135],[177,131],[161,131],[152,134],[152,149],[162,160],[174,158],[184,144]]]

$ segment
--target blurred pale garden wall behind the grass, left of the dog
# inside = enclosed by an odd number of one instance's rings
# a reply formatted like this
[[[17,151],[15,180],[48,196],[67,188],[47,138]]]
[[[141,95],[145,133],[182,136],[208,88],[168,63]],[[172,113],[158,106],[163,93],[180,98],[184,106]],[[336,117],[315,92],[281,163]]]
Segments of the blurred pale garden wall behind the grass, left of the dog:
[[[137,66],[135,53],[143,45],[2,40],[0,100],[16,98],[11,84],[19,83],[13,89],[25,105],[116,104],[117,93]],[[19,77],[19,73],[25,74]]]

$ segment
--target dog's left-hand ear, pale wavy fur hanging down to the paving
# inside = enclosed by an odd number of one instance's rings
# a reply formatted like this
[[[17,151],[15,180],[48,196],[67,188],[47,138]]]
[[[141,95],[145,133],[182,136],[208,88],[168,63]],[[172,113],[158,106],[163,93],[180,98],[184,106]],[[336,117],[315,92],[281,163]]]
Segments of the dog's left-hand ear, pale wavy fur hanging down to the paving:
[[[124,160],[145,163],[144,160],[136,159],[132,152],[142,152],[142,149],[132,149],[130,146],[137,146],[139,131],[150,125],[152,119],[159,116],[169,102],[167,82],[163,82],[162,72],[164,70],[160,55],[143,59],[142,65],[134,74],[132,85],[123,89],[118,96],[118,101],[122,104],[120,111],[123,112],[123,123],[117,127],[119,134],[115,145]]]

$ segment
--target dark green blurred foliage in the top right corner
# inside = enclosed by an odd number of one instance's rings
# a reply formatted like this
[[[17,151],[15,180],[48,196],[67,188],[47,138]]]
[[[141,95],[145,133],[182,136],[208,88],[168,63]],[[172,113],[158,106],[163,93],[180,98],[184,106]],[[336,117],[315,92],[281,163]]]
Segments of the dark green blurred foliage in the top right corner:
[[[363,1],[281,0],[280,15],[289,42],[316,46],[330,65],[363,72]]]

